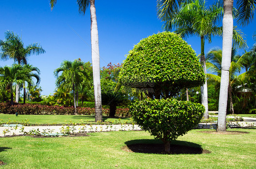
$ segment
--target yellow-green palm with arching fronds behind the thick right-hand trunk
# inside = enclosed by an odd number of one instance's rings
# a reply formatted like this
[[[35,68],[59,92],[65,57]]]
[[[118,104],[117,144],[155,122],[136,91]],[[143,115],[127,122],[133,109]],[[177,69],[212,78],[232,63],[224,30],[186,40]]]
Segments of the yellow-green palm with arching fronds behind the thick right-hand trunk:
[[[217,86],[216,88],[220,87],[221,62],[222,62],[221,49],[212,49],[208,52],[206,56],[206,67],[209,70],[209,72],[211,72],[212,74],[211,73],[207,74],[207,77],[210,83],[214,83],[215,86]],[[229,104],[230,104],[229,108],[230,108],[231,114],[234,114],[233,98],[236,99],[236,102],[237,102],[238,99],[245,99],[245,96],[246,96],[244,94],[244,98],[241,98],[241,96],[238,95],[237,91],[241,91],[242,90],[241,88],[243,88],[243,90],[245,90],[245,88],[250,89],[250,87],[248,86],[249,84],[248,81],[252,78],[252,75],[255,74],[256,69],[253,66],[255,63],[256,63],[256,58],[251,51],[246,52],[244,55],[238,55],[236,49],[234,48],[232,49],[231,64],[230,64],[230,70],[229,70],[229,86],[228,86],[228,96],[229,96],[228,99],[229,99]],[[246,70],[244,73],[241,73],[242,68]],[[250,92],[255,92],[255,91],[251,90]],[[252,99],[254,98],[252,97]],[[243,108],[245,109],[245,107]],[[249,109],[246,109],[246,110],[249,111]]]

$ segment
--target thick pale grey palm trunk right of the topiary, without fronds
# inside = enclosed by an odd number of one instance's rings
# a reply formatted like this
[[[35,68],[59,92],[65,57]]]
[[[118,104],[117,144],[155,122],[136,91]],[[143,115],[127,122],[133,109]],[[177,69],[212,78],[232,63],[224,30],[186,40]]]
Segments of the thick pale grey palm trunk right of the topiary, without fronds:
[[[233,0],[224,0],[223,16],[223,40],[222,40],[222,61],[221,61],[221,80],[220,80],[220,99],[217,131],[226,131],[226,109],[229,86],[229,69],[231,62],[233,18]]]

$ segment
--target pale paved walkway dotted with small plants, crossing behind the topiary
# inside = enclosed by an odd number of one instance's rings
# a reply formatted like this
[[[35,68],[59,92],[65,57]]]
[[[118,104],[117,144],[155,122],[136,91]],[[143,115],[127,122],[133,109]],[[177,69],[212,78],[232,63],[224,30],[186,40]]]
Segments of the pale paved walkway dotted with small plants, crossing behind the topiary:
[[[217,116],[212,116],[217,117]],[[227,116],[228,118],[235,118],[233,116]],[[231,122],[231,127],[256,126],[256,118],[243,117],[244,121]],[[200,123],[198,128],[215,129],[217,123]],[[13,135],[13,134],[24,134],[27,133],[38,133],[41,134],[60,134],[67,132],[101,132],[101,131],[128,131],[128,130],[141,130],[141,128],[135,124],[118,124],[118,125],[75,125],[75,126],[16,126],[12,124],[10,126],[0,127],[0,136]]]

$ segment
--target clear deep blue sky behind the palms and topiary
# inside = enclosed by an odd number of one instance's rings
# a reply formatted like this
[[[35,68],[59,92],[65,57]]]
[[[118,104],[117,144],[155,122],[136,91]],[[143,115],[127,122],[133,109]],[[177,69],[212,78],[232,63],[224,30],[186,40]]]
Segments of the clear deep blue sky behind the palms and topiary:
[[[211,5],[213,0],[207,2]],[[156,0],[96,0],[101,67],[122,63],[125,55],[141,39],[162,32],[162,22],[157,17]],[[49,0],[3,0],[0,5],[0,40],[11,30],[22,37],[25,45],[38,42],[45,54],[31,55],[28,63],[41,70],[43,95],[53,94],[56,88],[53,71],[63,60],[92,62],[90,39],[90,10],[85,15],[78,12],[76,0],[57,0],[51,11]],[[236,23],[234,22],[234,25]],[[256,21],[241,30],[247,45],[252,46]],[[189,37],[189,45],[200,54],[200,38]],[[222,47],[216,37],[205,43],[205,53],[213,47]],[[240,50],[243,53],[243,50]],[[13,60],[2,61],[0,66],[12,65]]]

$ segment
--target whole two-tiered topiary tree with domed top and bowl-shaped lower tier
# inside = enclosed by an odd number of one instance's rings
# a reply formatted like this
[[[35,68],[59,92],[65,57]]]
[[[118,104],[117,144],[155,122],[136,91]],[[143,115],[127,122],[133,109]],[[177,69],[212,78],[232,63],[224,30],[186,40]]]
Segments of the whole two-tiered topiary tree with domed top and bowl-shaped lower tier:
[[[171,140],[186,134],[202,118],[201,104],[169,99],[181,89],[205,82],[195,51],[177,34],[163,32],[141,40],[129,51],[119,80],[150,98],[131,104],[130,114],[164,142],[165,151],[170,150]]]

